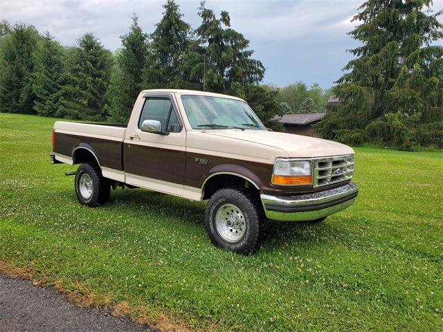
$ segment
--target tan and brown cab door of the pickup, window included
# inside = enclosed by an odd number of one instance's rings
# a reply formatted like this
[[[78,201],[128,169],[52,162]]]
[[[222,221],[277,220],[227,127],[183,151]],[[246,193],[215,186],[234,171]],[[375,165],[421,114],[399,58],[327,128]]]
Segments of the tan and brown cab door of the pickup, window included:
[[[144,120],[161,123],[161,133],[141,130]],[[183,196],[186,130],[170,94],[145,95],[138,123],[127,129],[123,156],[126,183]]]

